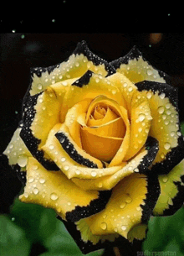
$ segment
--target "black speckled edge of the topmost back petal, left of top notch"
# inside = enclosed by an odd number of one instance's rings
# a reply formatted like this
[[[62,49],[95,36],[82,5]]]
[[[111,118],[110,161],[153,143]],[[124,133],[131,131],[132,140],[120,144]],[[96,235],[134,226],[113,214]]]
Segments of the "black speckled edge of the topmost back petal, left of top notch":
[[[81,55],[81,54],[83,54],[85,57],[87,57],[87,59],[89,61],[92,61],[94,65],[104,64],[105,65],[105,70],[108,72],[107,76],[110,76],[110,75],[112,75],[112,74],[114,74],[116,72],[115,68],[112,65],[110,65],[109,62],[107,62],[106,60],[103,60],[99,56],[93,54],[89,50],[89,48],[88,48],[88,46],[87,46],[87,44],[86,44],[86,42],[84,40],[77,44],[77,47],[74,50],[73,54],[74,55]]]

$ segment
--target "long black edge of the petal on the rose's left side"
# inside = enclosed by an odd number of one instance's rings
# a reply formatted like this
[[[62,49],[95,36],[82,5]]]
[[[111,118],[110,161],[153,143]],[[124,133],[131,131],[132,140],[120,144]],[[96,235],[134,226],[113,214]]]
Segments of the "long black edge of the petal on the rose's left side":
[[[24,144],[27,146],[31,154],[33,154],[33,157],[35,157],[35,159],[37,159],[38,162],[43,165],[45,169],[59,170],[59,167],[55,165],[53,161],[49,161],[49,159],[44,159],[43,150],[38,150],[38,144],[40,144],[40,139],[35,138],[33,136],[32,130],[30,129],[36,113],[34,106],[37,103],[38,96],[42,93],[43,91],[33,96],[26,96],[26,101],[23,102],[23,128],[20,132],[20,137],[23,139]]]

